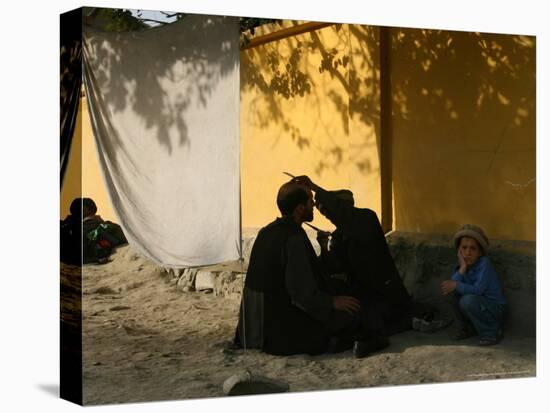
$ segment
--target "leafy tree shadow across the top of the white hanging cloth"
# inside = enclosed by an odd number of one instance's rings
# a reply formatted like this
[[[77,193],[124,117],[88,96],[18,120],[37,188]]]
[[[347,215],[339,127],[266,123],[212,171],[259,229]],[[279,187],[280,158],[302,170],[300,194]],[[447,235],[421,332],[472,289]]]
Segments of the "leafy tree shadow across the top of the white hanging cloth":
[[[139,32],[98,33],[86,27],[85,47],[97,62],[94,80],[104,92],[101,98],[112,112],[131,109],[146,128],[156,128],[158,142],[169,153],[174,144],[188,145],[187,110],[205,107],[218,82],[238,68],[234,22],[232,17],[188,15]],[[181,89],[167,93],[167,85],[174,84]],[[176,143],[170,136],[174,130]],[[112,138],[124,150],[116,133]]]

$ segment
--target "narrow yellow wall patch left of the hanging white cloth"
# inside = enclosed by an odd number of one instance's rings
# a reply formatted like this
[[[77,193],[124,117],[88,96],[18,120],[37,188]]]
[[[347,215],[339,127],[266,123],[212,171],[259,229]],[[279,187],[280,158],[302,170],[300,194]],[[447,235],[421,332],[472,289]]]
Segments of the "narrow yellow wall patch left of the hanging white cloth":
[[[118,222],[99,166],[85,98],[80,99],[73,146],[61,191],[61,218],[69,214],[72,200],[78,197],[92,198],[103,219]]]

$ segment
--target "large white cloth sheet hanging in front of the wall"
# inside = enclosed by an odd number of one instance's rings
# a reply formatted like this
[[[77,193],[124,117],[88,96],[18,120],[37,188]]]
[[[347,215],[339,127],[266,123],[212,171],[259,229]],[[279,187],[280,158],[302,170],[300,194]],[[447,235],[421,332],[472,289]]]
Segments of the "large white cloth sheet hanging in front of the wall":
[[[238,19],[85,28],[83,56],[99,162],[130,245],[174,268],[237,259]]]

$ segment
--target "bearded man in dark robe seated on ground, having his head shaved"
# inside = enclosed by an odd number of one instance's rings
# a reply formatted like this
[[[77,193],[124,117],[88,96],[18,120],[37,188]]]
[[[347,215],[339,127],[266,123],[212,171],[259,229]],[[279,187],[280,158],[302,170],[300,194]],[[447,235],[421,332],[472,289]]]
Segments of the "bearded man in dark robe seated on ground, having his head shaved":
[[[287,182],[279,189],[277,206],[282,217],[260,230],[252,248],[235,344],[277,355],[319,354],[330,351],[329,342],[339,337],[357,340],[356,357],[385,347],[387,340],[363,327],[356,298],[327,292],[302,228],[313,219],[311,191]]]

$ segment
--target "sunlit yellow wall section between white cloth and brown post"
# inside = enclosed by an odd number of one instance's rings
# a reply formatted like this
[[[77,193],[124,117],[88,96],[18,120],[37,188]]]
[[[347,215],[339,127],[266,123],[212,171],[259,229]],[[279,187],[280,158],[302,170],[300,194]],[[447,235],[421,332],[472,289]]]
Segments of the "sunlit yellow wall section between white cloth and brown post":
[[[334,25],[241,52],[243,227],[280,215],[282,171],[309,175],[326,189],[349,188],[357,205],[379,212],[375,35]],[[332,227],[319,213],[313,224]]]

